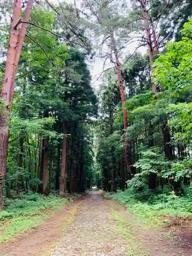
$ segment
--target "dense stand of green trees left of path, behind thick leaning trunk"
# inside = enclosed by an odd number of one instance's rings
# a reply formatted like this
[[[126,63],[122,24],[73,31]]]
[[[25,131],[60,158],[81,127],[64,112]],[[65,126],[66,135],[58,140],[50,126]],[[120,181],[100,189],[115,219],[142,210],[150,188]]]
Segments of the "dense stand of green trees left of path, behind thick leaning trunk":
[[[71,15],[74,12],[72,5],[63,3],[63,8]],[[66,43],[75,35],[67,31],[54,10],[34,6],[30,20],[43,29],[28,27],[17,70],[4,183],[6,210],[6,196],[12,198],[14,191],[19,200],[22,191],[49,194],[59,190],[63,133],[67,135],[67,187],[72,183],[73,192],[81,192],[94,178],[89,123],[97,114],[97,105],[86,63],[87,49]],[[1,27],[2,49],[7,47],[8,36],[5,24]],[[1,67],[2,77],[4,63]],[[45,189],[43,183],[47,183]],[[18,203],[25,204],[25,200]]]

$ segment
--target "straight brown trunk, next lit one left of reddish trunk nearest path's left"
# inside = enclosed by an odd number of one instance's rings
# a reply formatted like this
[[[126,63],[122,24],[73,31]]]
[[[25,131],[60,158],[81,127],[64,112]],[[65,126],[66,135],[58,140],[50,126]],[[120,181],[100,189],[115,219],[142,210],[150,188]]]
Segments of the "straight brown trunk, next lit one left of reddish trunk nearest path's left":
[[[48,138],[44,138],[44,165],[42,170],[42,193],[48,193]]]

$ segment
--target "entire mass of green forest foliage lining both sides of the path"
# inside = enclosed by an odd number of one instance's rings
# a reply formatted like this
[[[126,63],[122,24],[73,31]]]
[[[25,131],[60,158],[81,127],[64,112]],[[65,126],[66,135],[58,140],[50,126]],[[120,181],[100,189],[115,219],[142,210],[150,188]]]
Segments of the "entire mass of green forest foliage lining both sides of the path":
[[[191,212],[192,11],[190,1],[165,2],[134,0],[125,8],[127,1],[83,0],[81,10],[34,4],[8,123],[1,219],[52,206],[38,193],[63,196],[93,184],[129,188],[113,197],[135,213]],[[8,38],[3,23],[3,57]],[[88,68],[94,57],[110,67],[97,93]],[[1,115],[2,100],[0,107]]]

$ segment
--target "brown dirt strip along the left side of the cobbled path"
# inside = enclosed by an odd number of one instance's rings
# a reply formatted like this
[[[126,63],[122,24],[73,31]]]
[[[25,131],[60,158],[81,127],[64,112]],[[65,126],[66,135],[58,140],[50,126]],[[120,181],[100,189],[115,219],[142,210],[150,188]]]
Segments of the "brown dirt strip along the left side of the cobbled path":
[[[61,235],[66,233],[68,225],[73,222],[79,203],[78,200],[69,203],[65,205],[65,208],[62,206],[62,210],[48,209],[47,220],[35,223],[33,228],[20,233],[20,236],[17,235],[13,241],[0,244],[0,255],[50,255]]]

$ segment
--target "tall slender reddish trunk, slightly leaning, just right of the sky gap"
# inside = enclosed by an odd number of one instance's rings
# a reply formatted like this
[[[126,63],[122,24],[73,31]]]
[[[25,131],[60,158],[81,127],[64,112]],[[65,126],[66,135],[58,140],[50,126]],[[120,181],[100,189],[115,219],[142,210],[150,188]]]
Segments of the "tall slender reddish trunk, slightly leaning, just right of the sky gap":
[[[120,96],[121,96],[121,105],[123,109],[123,123],[124,123],[124,155],[125,155],[125,162],[129,168],[129,171],[131,173],[131,165],[129,161],[129,148],[127,144],[127,137],[126,137],[126,129],[128,127],[128,120],[127,120],[127,110],[125,109],[125,94],[124,94],[124,89],[123,89],[123,82],[122,82],[122,77],[121,77],[121,69],[120,69],[120,62],[119,62],[119,57],[118,57],[118,52],[115,44],[115,39],[113,32],[111,33],[111,42],[113,46],[113,50],[115,53],[115,61],[116,61],[116,69],[117,69],[117,80],[119,84],[119,91],[120,91]]]

